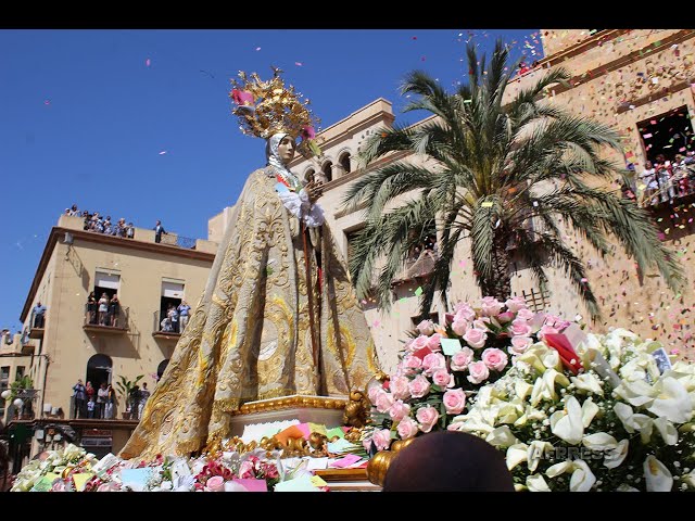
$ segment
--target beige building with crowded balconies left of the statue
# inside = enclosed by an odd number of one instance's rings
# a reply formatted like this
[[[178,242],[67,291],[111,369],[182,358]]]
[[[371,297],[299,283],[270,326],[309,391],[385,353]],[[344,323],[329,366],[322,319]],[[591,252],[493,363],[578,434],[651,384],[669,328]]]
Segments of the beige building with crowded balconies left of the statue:
[[[51,230],[22,309],[23,334],[9,344],[3,339],[0,348],[0,385],[22,373],[34,382],[22,410],[4,411],[8,421],[22,414],[15,428],[24,421],[36,431],[33,454],[73,433],[90,452],[117,452],[137,424],[127,418],[135,415],[127,414],[119,377],[132,381],[142,374],[139,385],[153,390],[180,336],[168,308],[184,301],[195,306],[217,250],[214,242],[175,233],[162,243],[154,239],[153,230],[140,228],[134,239],[85,231],[84,219],[70,216]],[[117,294],[118,308],[89,306],[90,292],[110,302]],[[42,325],[34,313],[39,302],[46,306]],[[96,389],[113,384],[116,421],[99,419],[98,406],[94,418],[76,412],[77,379]]]

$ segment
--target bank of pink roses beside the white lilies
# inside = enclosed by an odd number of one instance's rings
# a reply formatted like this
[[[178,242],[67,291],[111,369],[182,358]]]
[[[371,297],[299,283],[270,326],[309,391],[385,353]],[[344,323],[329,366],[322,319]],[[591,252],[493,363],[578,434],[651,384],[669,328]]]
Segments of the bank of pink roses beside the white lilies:
[[[503,303],[491,296],[477,308],[458,304],[443,326],[421,321],[395,371],[382,386],[369,389],[375,410],[363,439],[365,448],[374,442],[382,450],[392,439],[446,429],[481,386],[511,367],[510,358],[569,325],[553,315],[534,314],[522,297]]]

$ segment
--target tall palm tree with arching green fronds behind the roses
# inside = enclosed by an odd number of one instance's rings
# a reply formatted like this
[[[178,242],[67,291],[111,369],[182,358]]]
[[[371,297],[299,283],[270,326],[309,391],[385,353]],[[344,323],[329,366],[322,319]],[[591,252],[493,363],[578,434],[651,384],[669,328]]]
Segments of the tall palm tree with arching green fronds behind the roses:
[[[498,40],[485,69],[485,56],[479,62],[469,45],[469,81],[454,93],[424,72],[409,73],[402,92],[416,99],[404,112],[424,110],[433,117],[410,127],[380,128],[366,141],[364,164],[392,153],[428,161],[424,166],[392,162],[359,178],[345,193],[346,211],[366,205],[366,226],[356,236],[350,259],[358,296],[372,294],[389,308],[391,283],[420,240],[410,230],[431,223],[437,223],[440,256],[424,285],[424,316],[437,290],[446,302],[454,250],[469,239],[483,295],[502,301],[510,296],[509,250],[515,250],[540,284],[547,281],[548,260],[563,268],[597,318],[598,304],[584,264],[563,239],[563,225],[602,256],[611,253],[610,241],[617,239],[643,271],[656,267],[671,290],[678,289],[682,268],[659,241],[649,215],[601,187],[616,176],[626,178],[624,168],[599,155],[605,147],[620,151],[620,136],[607,125],[543,100],[548,86],[570,78],[561,68],[547,72],[503,105],[510,78],[506,71],[516,68],[507,67],[508,53]],[[528,226],[531,219],[540,226]],[[375,282],[375,267],[383,257]]]

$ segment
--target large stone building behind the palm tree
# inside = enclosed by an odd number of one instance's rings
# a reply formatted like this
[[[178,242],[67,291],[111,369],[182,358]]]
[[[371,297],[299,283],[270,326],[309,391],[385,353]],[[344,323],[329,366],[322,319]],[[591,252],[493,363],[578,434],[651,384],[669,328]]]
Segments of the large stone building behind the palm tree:
[[[572,75],[570,88],[557,87],[549,93],[552,101],[569,111],[591,116],[616,127],[624,137],[624,157],[612,152],[612,158],[620,164],[632,163],[641,173],[647,158],[654,160],[658,150],[671,160],[674,153],[695,150],[690,147],[692,119],[695,103],[691,82],[695,80],[695,31],[673,30],[629,30],[603,29],[543,29],[542,41],[546,58],[536,63],[535,68],[516,77],[508,89],[508,97],[535,82],[549,68],[563,66]],[[301,157],[291,165],[298,174],[314,173],[326,182],[321,204],[327,211],[327,220],[334,236],[340,238],[340,247],[349,255],[351,233],[364,226],[362,212],[346,214],[341,209],[341,200],[350,181],[379,166],[364,168],[355,161],[364,139],[380,126],[390,126],[395,117],[391,103],[379,99],[352,113],[344,119],[326,128],[321,134],[324,157],[320,173],[316,166]],[[421,124],[419,122],[416,125]],[[677,129],[672,127],[678,127]],[[668,138],[679,130],[688,142],[681,142],[678,150],[668,141],[654,147],[647,141],[654,128]],[[642,134],[641,134],[642,129]],[[670,129],[670,130],[669,130]],[[649,148],[649,144],[653,147]],[[668,145],[671,144],[669,148]],[[393,156],[388,161],[403,158]],[[426,161],[409,156],[408,161]],[[640,190],[635,179],[635,190]],[[618,185],[610,187],[618,189]],[[688,275],[686,287],[672,294],[656,272],[640,276],[633,262],[618,251],[611,258],[601,259],[580,238],[570,238],[569,244],[590,266],[590,281],[602,303],[604,320],[590,323],[597,331],[610,326],[630,328],[644,338],[657,338],[670,348],[679,350],[685,357],[692,356],[695,343],[692,339],[695,317],[695,294],[693,292],[693,219],[695,205],[693,195],[677,196],[673,203],[650,207],[655,220],[661,227],[665,242],[671,246]],[[431,263],[429,263],[431,266]],[[405,340],[405,331],[414,326],[413,317],[418,315],[416,293],[421,285],[428,266],[427,258],[409,269],[394,283],[396,302],[388,314],[380,313],[374,303],[363,302],[368,323],[378,346],[382,365],[389,369],[396,363],[396,353]],[[534,308],[545,308],[568,319],[578,314],[587,314],[579,297],[567,284],[561,272],[548,269],[549,284],[545,291],[534,287],[527,270],[514,265],[513,292],[525,295]],[[418,269],[419,268],[419,269]],[[433,313],[444,310],[458,301],[476,300],[480,295],[475,285],[468,255],[468,244],[464,241],[456,252],[453,272],[451,302],[440,303]]]

